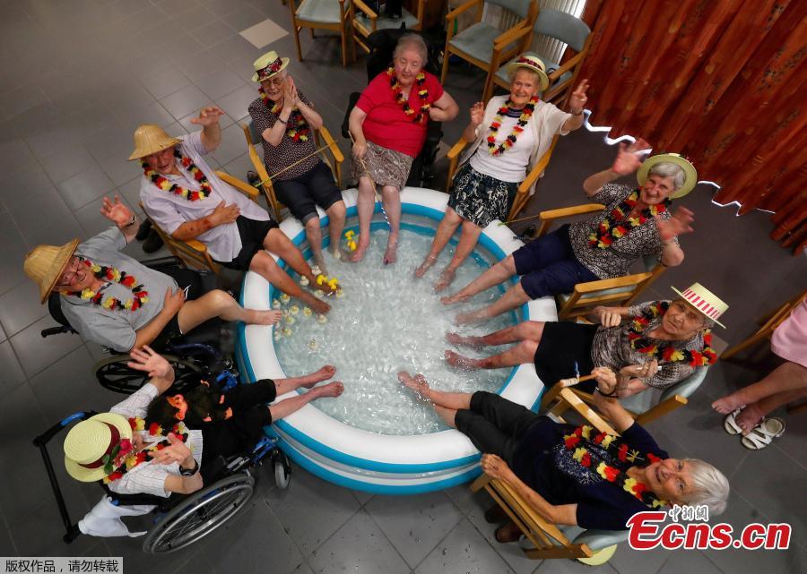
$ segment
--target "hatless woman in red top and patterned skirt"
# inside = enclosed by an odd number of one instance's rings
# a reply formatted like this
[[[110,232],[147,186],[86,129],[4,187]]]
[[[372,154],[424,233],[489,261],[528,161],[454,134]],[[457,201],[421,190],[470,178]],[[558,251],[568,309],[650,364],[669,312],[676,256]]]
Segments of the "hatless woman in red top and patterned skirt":
[[[448,122],[459,112],[438,79],[423,70],[428,61],[426,42],[418,34],[398,40],[393,65],[379,73],[361,92],[351,111],[353,137],[351,176],[359,181],[359,244],[352,260],[360,261],[369,247],[370,219],[376,204],[373,187],[381,186],[389,219],[384,263],[395,262],[401,226],[401,198],[412,167],[426,141],[429,120]]]

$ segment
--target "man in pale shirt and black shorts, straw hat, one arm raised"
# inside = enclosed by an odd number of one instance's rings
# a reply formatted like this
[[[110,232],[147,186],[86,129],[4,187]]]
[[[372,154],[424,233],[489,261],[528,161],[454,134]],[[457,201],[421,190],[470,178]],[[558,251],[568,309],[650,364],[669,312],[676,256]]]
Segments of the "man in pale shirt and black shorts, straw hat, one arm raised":
[[[276,253],[316,285],[317,277],[299,249],[266,210],[221,181],[202,158],[219,147],[223,113],[219,107],[204,107],[191,120],[202,131],[181,138],[169,136],[159,125],[144,124],[135,130],[129,159],[140,159],[143,166],[143,209],[175,239],[204,242],[213,260],[224,267],[256,271],[316,313],[327,313],[330,305],[300,288],[264,251]]]

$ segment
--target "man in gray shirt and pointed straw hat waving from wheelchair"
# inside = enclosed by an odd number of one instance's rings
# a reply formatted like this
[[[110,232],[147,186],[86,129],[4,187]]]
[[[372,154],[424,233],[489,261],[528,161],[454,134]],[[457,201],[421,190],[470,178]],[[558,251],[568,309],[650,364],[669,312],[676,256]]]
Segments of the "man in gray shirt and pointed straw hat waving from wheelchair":
[[[65,318],[84,337],[126,352],[154,341],[162,345],[213,317],[261,325],[280,321],[282,313],[244,309],[221,289],[201,295],[195,271],[171,270],[169,276],[120,253],[134,240],[137,218],[117,197],[104,198],[101,214],[116,227],[82,244],[74,239],[61,247],[39,245],[24,262],[41,302],[59,292]]]

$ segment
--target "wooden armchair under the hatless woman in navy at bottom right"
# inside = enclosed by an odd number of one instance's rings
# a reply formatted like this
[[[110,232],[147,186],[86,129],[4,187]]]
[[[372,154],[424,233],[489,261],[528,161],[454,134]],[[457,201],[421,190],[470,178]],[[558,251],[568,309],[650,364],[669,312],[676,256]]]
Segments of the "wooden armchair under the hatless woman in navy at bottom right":
[[[612,426],[581,401],[570,389],[560,391],[589,424],[601,433],[617,434]],[[516,523],[532,548],[523,549],[527,558],[545,560],[568,558],[595,566],[610,560],[617,544],[628,538],[627,531],[583,530],[579,527],[558,527],[541,517],[529,503],[509,484],[488,475],[482,475],[471,485],[473,492],[484,489]]]

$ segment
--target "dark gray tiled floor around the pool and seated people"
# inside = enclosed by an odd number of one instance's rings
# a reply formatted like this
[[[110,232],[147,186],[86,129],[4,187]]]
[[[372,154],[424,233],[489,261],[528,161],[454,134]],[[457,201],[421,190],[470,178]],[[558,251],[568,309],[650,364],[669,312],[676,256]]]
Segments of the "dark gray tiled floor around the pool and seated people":
[[[266,476],[244,516],[185,552],[154,559],[140,553],[137,540],[120,538],[62,544],[30,439],[74,409],[108,407],[116,397],[91,380],[99,347],[75,336],[39,337],[53,321],[22,273],[24,253],[106,227],[98,214],[104,194],[119,193],[136,209],[139,171],[126,157],[138,124],[184,133],[193,129],[188,120],[199,107],[216,103],[227,116],[211,163],[243,176],[248,161],[238,124],[256,96],[251,63],[265,50],[292,57],[291,73],[334,134],[347,95],[365,84],[365,72],[361,61],[343,69],[338,40],[323,34],[303,35],[303,63],[294,58],[291,33],[262,49],[240,35],[251,30],[247,37],[256,42],[262,32],[277,38],[267,19],[291,32],[279,0],[0,0],[0,7],[0,555],[123,555],[126,571],[154,574],[586,571],[577,562],[527,561],[514,545],[493,543],[482,520],[486,501],[465,487],[389,499],[326,484],[300,469],[284,492]],[[466,108],[480,81],[469,69],[453,68],[447,90]],[[456,141],[463,126],[464,117],[447,125],[446,141]],[[529,211],[584,201],[582,180],[606,167],[612,154],[602,133],[581,130],[562,139]],[[712,192],[702,185],[683,201],[697,217],[696,233],[682,239],[687,261],[652,291],[668,296],[669,285],[702,281],[731,305],[730,329],[718,335],[736,342],[760,315],[807,287],[804,261],[768,239],[767,214],[736,218],[733,207],[711,203]],[[690,405],[651,430],[673,453],[707,458],[729,475],[726,519],[733,525],[792,524],[791,549],[638,553],[622,547],[599,571],[807,570],[805,418],[789,417],[785,436],[758,453],[723,433],[709,409],[714,398],[751,381],[751,372],[717,364]],[[70,510],[88,509],[98,493],[57,472]]]

